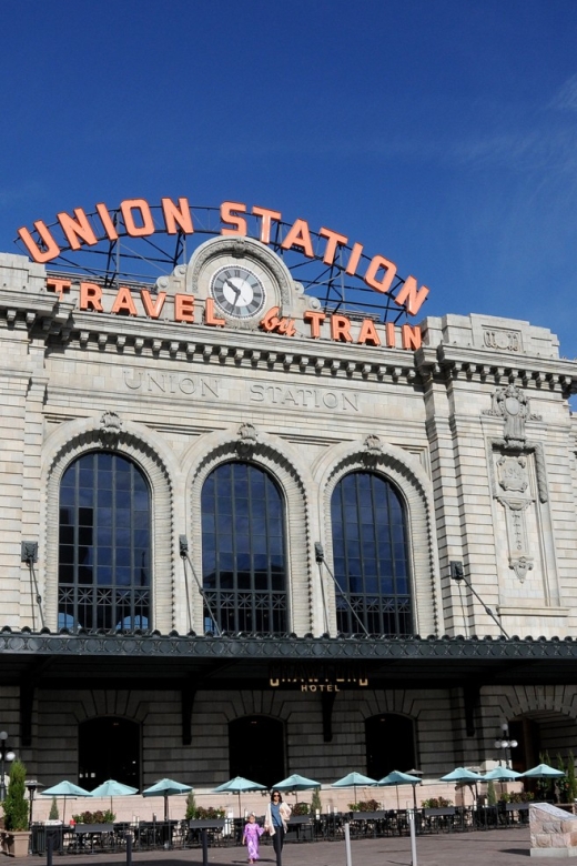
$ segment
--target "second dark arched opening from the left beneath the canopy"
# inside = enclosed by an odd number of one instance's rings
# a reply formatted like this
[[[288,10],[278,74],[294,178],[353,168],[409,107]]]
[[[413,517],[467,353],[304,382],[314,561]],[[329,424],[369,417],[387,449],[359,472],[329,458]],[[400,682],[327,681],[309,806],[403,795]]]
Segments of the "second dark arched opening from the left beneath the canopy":
[[[284,725],[267,716],[243,716],[229,723],[231,778],[243,776],[272,787],[284,778]]]

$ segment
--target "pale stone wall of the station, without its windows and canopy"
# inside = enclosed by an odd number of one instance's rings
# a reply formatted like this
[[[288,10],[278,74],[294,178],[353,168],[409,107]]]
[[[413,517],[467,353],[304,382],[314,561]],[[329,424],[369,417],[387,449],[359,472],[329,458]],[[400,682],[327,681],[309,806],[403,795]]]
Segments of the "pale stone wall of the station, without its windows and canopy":
[[[185,603],[179,537],[186,536],[202,574],[203,484],[240,455],[283,493],[288,631],[296,636],[336,635],[335,585],[328,568],[320,572],[315,543],[331,566],[331,497],[354,471],[377,473],[401,492],[415,634],[498,637],[486,607],[509,636],[574,634],[577,446],[567,401],[577,363],[559,358],[556,338],[528,322],[480,315],[425,319],[421,345],[415,330],[392,333],[382,324],[379,345],[358,342],[355,321],[351,340],[335,339],[330,316],[315,338],[304,316],[318,312],[317,302],[281,260],[255,252],[257,242],[251,254],[261,256],[279,315],[295,333],[219,323],[203,268],[223,243],[204,244],[145,299],[142,286],[122,296],[118,286],[100,286],[102,310],[87,303],[93,295],[81,302],[80,282],[93,284],[88,278],[63,289],[42,265],[0,256],[0,626],[58,630],[62,475],[79,455],[108,449],[134,461],[152,491],[151,625],[161,634],[203,633],[202,597],[191,593]],[[222,254],[234,262],[229,248]],[[183,306],[182,296],[193,304]],[[409,338],[417,348],[403,348]],[[22,561],[22,542],[38,545],[33,568]],[[452,562],[463,564],[484,604],[451,578]],[[2,727],[18,742],[18,684],[4,675],[0,694]],[[184,745],[180,701],[178,692],[160,699],[138,686],[71,692],[40,681],[32,737],[21,752],[45,784],[74,778],[79,724],[118,715],[140,725],[143,784],[176,775],[210,787],[229,774],[229,722],[253,714],[284,723],[287,772],[323,783],[353,766],[364,771],[364,721],[377,714],[414,719],[428,778],[495,758],[504,721],[530,718],[544,748],[576,748],[570,684],[482,683],[473,735],[457,686],[343,691],[332,707],[332,741],[323,738],[314,696],[201,683]]]

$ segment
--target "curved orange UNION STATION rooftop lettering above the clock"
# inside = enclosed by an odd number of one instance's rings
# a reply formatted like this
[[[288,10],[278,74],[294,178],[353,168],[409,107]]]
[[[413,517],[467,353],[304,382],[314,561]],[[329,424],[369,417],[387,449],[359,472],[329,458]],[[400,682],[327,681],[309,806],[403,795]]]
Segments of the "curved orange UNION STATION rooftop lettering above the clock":
[[[57,220],[68,242],[65,249],[70,250],[93,246],[105,240],[117,241],[121,234],[126,234],[131,238],[144,238],[154,234],[155,231],[165,231],[166,234],[178,234],[179,232],[184,234],[194,233],[191,205],[188,199],[180,198],[175,202],[172,199],[163,198],[161,199],[161,211],[164,229],[156,228],[151,207],[144,199],[125,199],[120,203],[119,214],[122,220],[123,231],[121,225],[112,218],[108,207],[102,202],[95,205],[95,213],[92,220],[89,219],[89,214],[82,208],[74,208],[73,215],[61,211],[57,214]],[[260,223],[259,240],[262,243],[270,244],[272,232],[282,219],[280,211],[274,211],[270,208],[253,205],[249,209],[242,202],[223,202],[220,207],[221,234],[246,235],[249,233],[247,215],[257,218]],[[34,262],[45,263],[53,261],[62,252],[62,248],[54,238],[53,232],[43,220],[37,220],[34,229],[40,243],[26,226],[20,228],[18,234]],[[397,273],[396,264],[391,259],[379,254],[374,255],[368,260],[365,269],[366,256],[364,255],[362,243],[355,241],[348,246],[348,238],[345,234],[326,226],[318,229],[316,234],[324,241],[324,249],[320,254],[314,252],[312,232],[307,221],[296,219],[288,228],[280,246],[283,250],[296,250],[307,259],[322,259],[327,265],[335,264],[337,254],[341,252],[344,255],[346,249],[345,273],[351,276],[358,276],[375,292],[386,294],[391,290]],[[419,286],[415,276],[407,276],[401,290],[394,296],[394,301],[411,315],[416,315],[427,295],[428,289],[425,285]]]

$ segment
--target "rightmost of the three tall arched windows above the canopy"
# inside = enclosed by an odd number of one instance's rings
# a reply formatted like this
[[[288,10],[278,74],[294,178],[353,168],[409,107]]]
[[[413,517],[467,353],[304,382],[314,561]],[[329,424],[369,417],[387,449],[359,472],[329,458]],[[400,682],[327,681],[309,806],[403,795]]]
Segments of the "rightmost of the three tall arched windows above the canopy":
[[[352,472],[331,502],[336,618],[342,634],[413,632],[405,508],[372,472]],[[361,625],[362,623],[362,625]]]

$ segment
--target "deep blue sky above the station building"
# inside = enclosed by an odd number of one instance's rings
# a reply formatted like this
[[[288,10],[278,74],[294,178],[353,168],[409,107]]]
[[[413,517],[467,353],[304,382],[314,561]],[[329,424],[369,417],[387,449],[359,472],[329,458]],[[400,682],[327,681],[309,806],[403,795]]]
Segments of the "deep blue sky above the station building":
[[[0,6],[0,249],[58,211],[231,199],[577,356],[575,0]],[[421,315],[418,318],[422,318]]]

